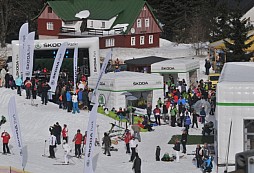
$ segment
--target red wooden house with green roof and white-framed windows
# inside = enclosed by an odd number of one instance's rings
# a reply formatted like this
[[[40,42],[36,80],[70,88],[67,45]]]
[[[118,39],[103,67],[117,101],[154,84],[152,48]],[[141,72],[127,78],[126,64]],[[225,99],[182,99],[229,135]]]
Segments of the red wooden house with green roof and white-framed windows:
[[[100,49],[159,47],[162,32],[144,0],[48,1],[36,19],[39,39],[99,37]]]

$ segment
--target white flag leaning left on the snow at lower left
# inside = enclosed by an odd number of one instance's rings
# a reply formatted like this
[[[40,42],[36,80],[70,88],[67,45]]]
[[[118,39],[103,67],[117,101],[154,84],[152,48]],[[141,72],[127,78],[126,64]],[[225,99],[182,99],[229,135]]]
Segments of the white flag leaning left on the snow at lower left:
[[[19,117],[18,117],[17,108],[16,108],[15,96],[12,96],[10,98],[10,101],[8,104],[8,114],[9,114],[11,129],[12,129],[12,135],[16,141],[17,149],[19,150],[19,155],[21,158],[21,165],[24,170],[25,169],[25,163],[24,163],[25,159],[24,159],[24,154],[23,154],[21,129],[20,129],[20,125],[19,125]]]

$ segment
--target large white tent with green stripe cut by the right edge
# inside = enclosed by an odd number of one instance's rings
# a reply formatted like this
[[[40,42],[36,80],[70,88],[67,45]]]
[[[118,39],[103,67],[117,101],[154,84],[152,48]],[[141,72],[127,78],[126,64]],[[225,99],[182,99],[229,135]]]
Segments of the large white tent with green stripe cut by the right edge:
[[[217,84],[215,147],[218,164],[227,157],[230,122],[232,130],[228,162],[235,154],[254,149],[254,63],[233,62],[223,67]]]

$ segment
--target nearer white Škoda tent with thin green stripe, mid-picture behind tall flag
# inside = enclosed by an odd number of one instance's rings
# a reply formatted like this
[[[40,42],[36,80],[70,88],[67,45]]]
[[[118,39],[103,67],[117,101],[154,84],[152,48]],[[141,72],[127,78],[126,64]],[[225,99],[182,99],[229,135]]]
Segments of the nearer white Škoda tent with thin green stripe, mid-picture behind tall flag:
[[[88,87],[94,89],[97,79],[97,75],[89,77]],[[103,75],[98,93],[100,105],[108,109],[129,105],[144,109],[148,104],[155,107],[159,97],[163,98],[163,77],[130,71],[110,72]]]

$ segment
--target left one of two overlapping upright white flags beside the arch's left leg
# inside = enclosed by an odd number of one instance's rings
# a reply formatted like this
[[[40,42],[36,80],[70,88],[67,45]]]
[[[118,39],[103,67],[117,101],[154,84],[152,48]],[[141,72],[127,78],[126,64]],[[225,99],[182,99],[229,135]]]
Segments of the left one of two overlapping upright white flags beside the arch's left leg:
[[[24,62],[24,52],[25,52],[25,41],[28,35],[28,23],[24,23],[19,30],[19,74],[23,76],[23,62]],[[23,80],[23,77],[22,77]]]

